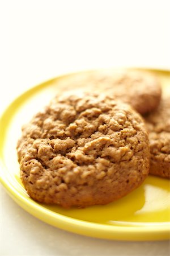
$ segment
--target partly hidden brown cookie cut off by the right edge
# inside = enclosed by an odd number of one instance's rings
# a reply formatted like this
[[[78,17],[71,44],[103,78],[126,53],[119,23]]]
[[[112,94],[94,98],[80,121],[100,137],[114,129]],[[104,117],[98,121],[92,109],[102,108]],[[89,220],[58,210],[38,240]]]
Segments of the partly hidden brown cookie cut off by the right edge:
[[[170,97],[163,98],[157,110],[146,117],[149,131],[150,174],[170,179]]]

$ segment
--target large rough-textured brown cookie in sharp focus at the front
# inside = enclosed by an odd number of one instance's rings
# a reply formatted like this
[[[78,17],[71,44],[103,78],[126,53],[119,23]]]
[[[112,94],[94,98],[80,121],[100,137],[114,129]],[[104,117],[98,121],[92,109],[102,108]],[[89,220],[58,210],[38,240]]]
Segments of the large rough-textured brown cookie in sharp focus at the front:
[[[32,199],[62,207],[108,204],[146,179],[142,117],[112,97],[55,98],[23,127],[20,176]]]

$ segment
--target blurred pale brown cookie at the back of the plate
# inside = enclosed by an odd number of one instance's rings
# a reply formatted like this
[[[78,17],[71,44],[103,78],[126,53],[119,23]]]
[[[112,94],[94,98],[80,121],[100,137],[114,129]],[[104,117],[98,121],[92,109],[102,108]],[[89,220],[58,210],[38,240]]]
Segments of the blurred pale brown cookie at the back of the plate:
[[[79,73],[58,82],[59,90],[84,88],[115,96],[145,114],[160,102],[162,90],[154,73],[136,70],[105,70]],[[71,92],[72,93],[72,92]]]

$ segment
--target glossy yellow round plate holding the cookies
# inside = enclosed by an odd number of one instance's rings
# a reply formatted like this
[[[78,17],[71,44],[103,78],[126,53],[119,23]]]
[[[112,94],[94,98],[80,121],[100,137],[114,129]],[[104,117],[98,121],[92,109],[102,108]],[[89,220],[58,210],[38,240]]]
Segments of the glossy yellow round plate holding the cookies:
[[[169,91],[170,72],[153,71]],[[68,76],[68,75],[67,75]],[[44,82],[28,90],[1,117],[1,182],[22,208],[50,225],[85,236],[114,240],[165,240],[170,230],[169,180],[149,176],[128,196],[104,206],[63,209],[36,203],[25,192],[19,178],[16,141],[21,126],[56,94],[57,81]],[[37,107],[38,106],[38,107]],[[38,109],[39,108],[39,109]]]

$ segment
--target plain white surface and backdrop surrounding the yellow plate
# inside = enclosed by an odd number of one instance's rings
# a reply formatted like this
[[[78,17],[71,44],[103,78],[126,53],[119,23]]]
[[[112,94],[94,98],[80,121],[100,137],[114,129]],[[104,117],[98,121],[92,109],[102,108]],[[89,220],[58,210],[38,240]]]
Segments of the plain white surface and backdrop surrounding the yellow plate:
[[[170,68],[169,1],[0,1],[0,111],[61,73],[98,67]],[[0,185],[1,255],[163,255],[168,241],[71,234],[20,208]]]

